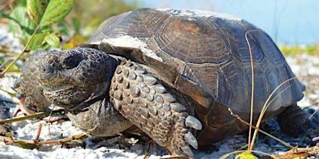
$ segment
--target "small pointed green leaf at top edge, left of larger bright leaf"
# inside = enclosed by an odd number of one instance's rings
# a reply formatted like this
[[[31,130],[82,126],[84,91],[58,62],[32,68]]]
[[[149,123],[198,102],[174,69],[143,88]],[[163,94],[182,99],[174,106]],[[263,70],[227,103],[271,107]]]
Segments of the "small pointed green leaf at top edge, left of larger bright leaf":
[[[28,10],[29,17],[35,22],[35,24],[39,24],[44,12],[46,10],[46,6],[48,6],[50,0],[27,0],[26,1],[26,9]]]

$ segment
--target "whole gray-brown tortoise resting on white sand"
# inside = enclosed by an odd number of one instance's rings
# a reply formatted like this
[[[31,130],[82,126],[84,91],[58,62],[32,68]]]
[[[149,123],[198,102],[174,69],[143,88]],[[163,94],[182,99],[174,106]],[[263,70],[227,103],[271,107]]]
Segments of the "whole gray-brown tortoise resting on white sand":
[[[79,48],[39,50],[29,57],[16,86],[18,97],[31,111],[64,107],[91,135],[143,131],[172,154],[193,156],[191,147],[247,129],[228,111],[249,121],[246,34],[256,122],[270,93],[295,75],[266,32],[214,12],[141,8],[111,17]],[[107,42],[125,36],[144,48]],[[301,133],[309,114],[296,102],[304,89],[298,79],[279,87],[264,120],[278,116],[284,132]]]

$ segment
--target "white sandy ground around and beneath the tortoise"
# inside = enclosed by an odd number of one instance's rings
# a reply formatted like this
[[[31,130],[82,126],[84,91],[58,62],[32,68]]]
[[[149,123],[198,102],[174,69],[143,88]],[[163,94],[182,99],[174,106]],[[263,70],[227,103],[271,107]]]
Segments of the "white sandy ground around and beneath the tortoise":
[[[21,50],[21,46],[17,39],[14,39],[7,28],[2,26],[0,27],[0,45],[10,46],[12,51]],[[311,75],[319,79],[318,57],[298,55],[295,57],[286,57],[286,59],[296,75]],[[11,86],[18,77],[19,75],[17,74],[6,74],[5,77],[0,78],[0,88],[9,92],[14,92]],[[309,78],[303,78],[301,80],[307,86],[307,92],[305,93],[304,99],[298,104],[300,104],[300,106],[312,106],[316,109],[319,99],[318,83]],[[5,91],[0,91],[0,99],[15,103],[19,102],[15,97],[8,95]],[[9,102],[6,102],[6,107],[10,109],[10,117],[12,117],[15,110],[19,108],[17,104],[10,104]],[[71,135],[83,133],[83,131],[74,127],[70,121],[64,120],[53,122],[52,124],[48,124],[42,120],[24,120],[12,123],[11,127],[12,131],[15,132],[15,138],[33,140],[37,134],[40,123],[43,124],[40,140],[55,140],[60,138],[61,135],[63,137],[70,137]],[[279,129],[274,120],[270,120],[269,123],[269,127]],[[306,140],[300,142],[301,138],[289,138],[280,131],[278,131],[276,135],[284,138],[286,141],[288,140],[289,143],[298,144],[300,146],[306,146],[310,140],[309,138],[306,138]],[[246,139],[243,135],[236,135],[231,139],[212,144],[208,147],[208,151],[194,150],[194,154],[195,158],[220,158],[225,155],[225,153],[236,151],[236,149],[239,149],[245,144]],[[144,138],[123,138],[122,136],[117,136],[101,140],[100,138],[91,136],[81,145],[82,147],[67,149],[62,148],[61,144],[58,144],[51,147],[45,147],[46,149],[30,150],[22,149],[16,145],[6,145],[3,142],[0,142],[0,158],[144,158],[148,147],[150,147],[148,158],[168,156],[168,153],[164,151],[162,147],[155,143],[146,144]],[[284,151],[282,145],[274,140],[266,140],[264,144],[258,144],[255,150],[268,153],[280,153]]]

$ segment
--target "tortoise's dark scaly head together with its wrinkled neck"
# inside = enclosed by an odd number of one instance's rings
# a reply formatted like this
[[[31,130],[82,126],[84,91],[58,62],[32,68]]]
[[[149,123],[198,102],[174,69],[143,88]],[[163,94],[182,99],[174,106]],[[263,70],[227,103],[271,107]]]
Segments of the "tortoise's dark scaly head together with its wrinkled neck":
[[[108,95],[119,60],[92,48],[46,53],[40,59],[44,96],[69,110],[69,118],[80,128],[111,136],[132,126],[114,111]]]

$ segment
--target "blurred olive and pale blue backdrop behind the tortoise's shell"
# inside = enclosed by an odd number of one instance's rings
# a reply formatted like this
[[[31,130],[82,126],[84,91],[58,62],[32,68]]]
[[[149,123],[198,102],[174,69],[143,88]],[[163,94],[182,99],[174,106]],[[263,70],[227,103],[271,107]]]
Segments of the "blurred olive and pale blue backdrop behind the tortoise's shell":
[[[0,0],[0,10],[10,14],[18,3],[19,0]],[[279,46],[308,49],[319,55],[318,0],[76,0],[66,18],[67,27],[80,28],[81,35],[87,38],[107,17],[141,7],[223,12],[265,30]],[[0,24],[5,23],[6,19],[0,20]]]

